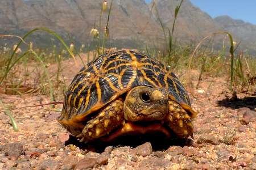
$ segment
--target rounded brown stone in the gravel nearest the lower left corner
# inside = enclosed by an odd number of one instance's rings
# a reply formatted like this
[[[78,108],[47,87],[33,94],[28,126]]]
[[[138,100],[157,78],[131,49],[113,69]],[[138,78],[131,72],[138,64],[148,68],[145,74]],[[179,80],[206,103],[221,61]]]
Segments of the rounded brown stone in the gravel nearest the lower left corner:
[[[24,153],[23,145],[19,142],[10,143],[4,148],[4,151],[6,156],[14,160],[18,159]]]

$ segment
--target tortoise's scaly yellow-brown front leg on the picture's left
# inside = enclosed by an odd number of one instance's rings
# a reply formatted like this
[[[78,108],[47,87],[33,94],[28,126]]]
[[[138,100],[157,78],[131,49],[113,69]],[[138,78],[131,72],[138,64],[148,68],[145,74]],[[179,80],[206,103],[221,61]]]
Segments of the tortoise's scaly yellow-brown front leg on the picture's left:
[[[122,99],[117,99],[102,109],[96,117],[86,122],[82,133],[77,137],[81,138],[80,142],[88,142],[92,139],[100,138],[121,125],[122,121],[123,101]]]

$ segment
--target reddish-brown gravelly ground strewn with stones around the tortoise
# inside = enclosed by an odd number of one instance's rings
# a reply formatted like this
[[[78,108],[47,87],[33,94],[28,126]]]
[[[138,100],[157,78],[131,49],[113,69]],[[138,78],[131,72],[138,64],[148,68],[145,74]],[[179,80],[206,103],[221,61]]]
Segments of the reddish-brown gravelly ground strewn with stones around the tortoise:
[[[193,92],[199,114],[195,139],[185,146],[164,138],[151,145],[148,137],[130,137],[126,146],[79,145],[56,121],[59,112],[49,106],[20,108],[48,103],[49,97],[0,95],[7,106],[19,108],[13,110],[18,132],[0,113],[0,169],[256,169],[256,99],[228,100],[226,87],[224,79],[208,78]]]

